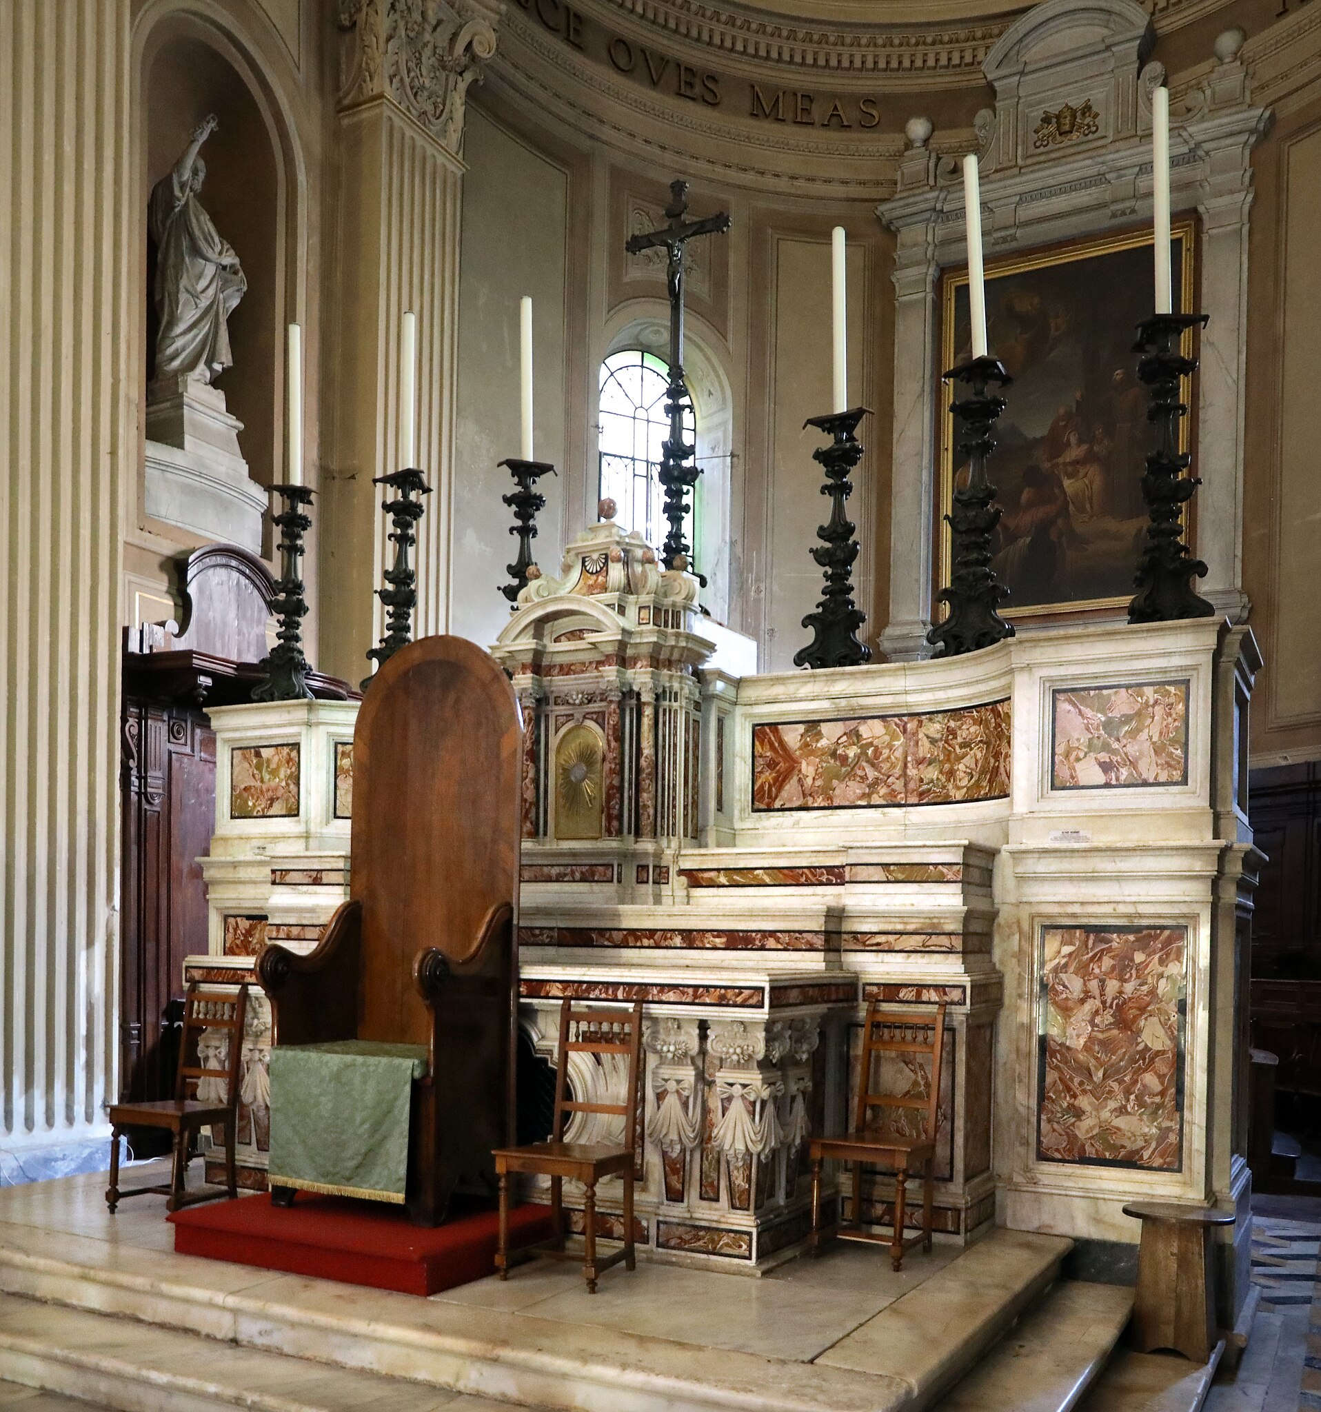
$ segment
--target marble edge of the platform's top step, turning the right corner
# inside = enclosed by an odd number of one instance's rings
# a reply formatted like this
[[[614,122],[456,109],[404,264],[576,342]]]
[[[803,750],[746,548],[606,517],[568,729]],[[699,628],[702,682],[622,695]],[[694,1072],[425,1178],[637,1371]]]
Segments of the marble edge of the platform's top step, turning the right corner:
[[[222,1354],[408,1380],[436,1406],[471,1394],[562,1412],[923,1412],[1057,1282],[1071,1244],[994,1231],[812,1363],[13,1224],[0,1224],[0,1291],[137,1320],[210,1357],[229,1344]]]

